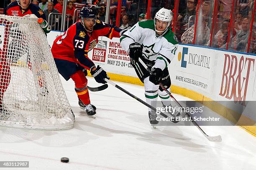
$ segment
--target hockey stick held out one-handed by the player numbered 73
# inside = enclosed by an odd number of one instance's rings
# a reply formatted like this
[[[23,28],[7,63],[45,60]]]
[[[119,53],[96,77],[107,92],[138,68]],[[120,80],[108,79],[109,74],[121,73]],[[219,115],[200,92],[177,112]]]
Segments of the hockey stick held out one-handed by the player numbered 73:
[[[135,95],[131,94],[130,92],[128,92],[127,90],[123,89],[122,87],[120,87],[119,85],[115,84],[114,82],[105,79],[106,82],[108,82],[110,85],[113,85],[114,87],[118,88],[119,90],[121,90],[122,92],[125,92],[127,95],[133,97],[134,99],[138,100],[139,102],[141,102],[143,105],[146,105],[147,107],[151,108],[152,110],[156,111],[156,108],[149,105],[148,103],[144,102],[143,100],[141,100],[140,98],[136,97]],[[159,111],[160,112],[160,111]],[[160,112],[160,115],[162,115],[165,118],[168,118],[169,116],[165,115],[163,112]],[[170,120],[172,121],[172,117],[170,117]],[[177,123],[178,121],[172,121],[173,123]]]

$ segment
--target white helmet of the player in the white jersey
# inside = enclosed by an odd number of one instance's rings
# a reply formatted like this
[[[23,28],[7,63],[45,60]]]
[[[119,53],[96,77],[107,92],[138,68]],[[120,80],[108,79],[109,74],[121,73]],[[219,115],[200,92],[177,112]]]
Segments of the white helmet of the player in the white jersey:
[[[172,18],[173,18],[173,15],[172,15],[172,10],[168,10],[168,9],[165,9],[164,7],[161,8],[155,15],[155,18],[154,18],[154,25],[155,25],[155,30],[157,32],[164,32],[168,29],[168,27],[170,26],[171,22],[172,22]],[[165,22],[168,22],[168,25],[166,27],[166,29],[164,31],[158,31],[156,29],[156,20],[160,20],[160,21],[165,21]]]

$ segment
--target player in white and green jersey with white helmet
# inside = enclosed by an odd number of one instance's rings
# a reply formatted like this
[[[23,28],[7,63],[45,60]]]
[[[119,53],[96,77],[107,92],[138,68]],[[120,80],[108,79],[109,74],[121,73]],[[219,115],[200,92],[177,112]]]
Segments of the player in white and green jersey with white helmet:
[[[171,10],[161,8],[154,20],[141,20],[120,37],[121,47],[129,52],[131,64],[144,83],[146,102],[154,107],[158,96],[163,106],[171,105],[170,96],[159,87],[159,82],[170,91],[171,79],[167,66],[178,46],[177,37],[168,28],[172,17]],[[153,75],[138,61],[139,57],[151,68]],[[176,116],[177,112],[173,115]],[[151,125],[158,124],[156,112],[150,108],[148,117]]]

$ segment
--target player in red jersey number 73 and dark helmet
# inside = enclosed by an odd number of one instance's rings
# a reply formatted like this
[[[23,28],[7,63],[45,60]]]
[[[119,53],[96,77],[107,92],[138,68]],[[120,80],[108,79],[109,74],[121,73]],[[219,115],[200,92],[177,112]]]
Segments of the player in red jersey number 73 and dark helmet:
[[[99,65],[95,66],[87,54],[95,47],[99,36],[110,39],[120,37],[121,29],[96,20],[95,11],[91,7],[83,7],[79,16],[80,20],[77,23],[56,38],[51,52],[59,73],[66,80],[74,80],[79,105],[84,108],[87,115],[95,115],[96,107],[90,103],[87,89],[87,70],[90,70],[99,83],[106,83],[104,79],[109,77]]]

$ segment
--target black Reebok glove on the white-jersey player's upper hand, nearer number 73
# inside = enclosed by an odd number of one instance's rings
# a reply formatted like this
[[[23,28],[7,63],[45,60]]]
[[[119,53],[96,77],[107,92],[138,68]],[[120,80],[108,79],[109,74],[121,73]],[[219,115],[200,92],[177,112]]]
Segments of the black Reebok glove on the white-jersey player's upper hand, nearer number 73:
[[[143,46],[138,42],[133,42],[130,44],[129,56],[131,58],[131,64],[138,62],[138,58],[142,56]]]

